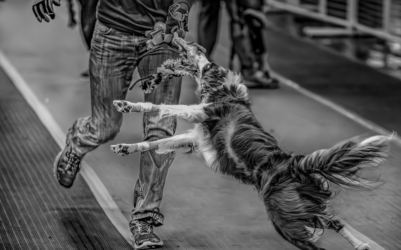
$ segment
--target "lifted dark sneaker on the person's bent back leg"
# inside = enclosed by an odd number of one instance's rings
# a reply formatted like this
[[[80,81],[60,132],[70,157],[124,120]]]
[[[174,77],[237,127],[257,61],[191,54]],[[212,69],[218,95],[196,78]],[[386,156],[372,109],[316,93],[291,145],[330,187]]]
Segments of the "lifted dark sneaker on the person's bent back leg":
[[[75,176],[81,168],[83,156],[78,156],[71,147],[71,140],[67,138],[67,145],[64,150],[56,156],[53,173],[56,180],[66,188],[73,185]]]

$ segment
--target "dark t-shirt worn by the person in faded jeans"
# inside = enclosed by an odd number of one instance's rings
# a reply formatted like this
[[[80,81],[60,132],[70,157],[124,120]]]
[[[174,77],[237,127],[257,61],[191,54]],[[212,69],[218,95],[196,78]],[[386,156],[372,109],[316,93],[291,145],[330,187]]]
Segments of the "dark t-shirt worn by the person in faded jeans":
[[[190,8],[194,0],[100,0],[97,19],[117,30],[144,34],[156,22],[165,22],[168,7],[173,3],[186,3]]]

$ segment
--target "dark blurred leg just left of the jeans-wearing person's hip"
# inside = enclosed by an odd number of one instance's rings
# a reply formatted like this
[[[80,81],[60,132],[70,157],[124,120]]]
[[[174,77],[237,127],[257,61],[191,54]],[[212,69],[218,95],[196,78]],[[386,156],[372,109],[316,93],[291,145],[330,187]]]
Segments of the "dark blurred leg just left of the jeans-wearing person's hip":
[[[96,7],[99,0],[79,0],[81,4],[81,28],[88,50],[91,49],[93,30],[96,23]],[[89,69],[81,73],[83,79],[89,79]]]

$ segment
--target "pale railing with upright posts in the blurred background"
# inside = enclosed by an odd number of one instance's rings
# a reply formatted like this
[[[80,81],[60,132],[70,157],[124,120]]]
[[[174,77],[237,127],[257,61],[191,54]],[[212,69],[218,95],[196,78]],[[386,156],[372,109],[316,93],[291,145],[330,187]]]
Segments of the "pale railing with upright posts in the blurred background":
[[[401,0],[265,0],[268,6],[401,41]]]

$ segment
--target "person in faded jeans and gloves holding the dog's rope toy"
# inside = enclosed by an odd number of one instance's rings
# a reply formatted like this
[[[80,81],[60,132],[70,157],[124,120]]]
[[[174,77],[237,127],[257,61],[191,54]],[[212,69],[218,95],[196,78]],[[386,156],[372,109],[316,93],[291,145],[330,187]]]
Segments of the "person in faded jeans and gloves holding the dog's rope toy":
[[[125,100],[134,69],[138,67],[141,78],[150,76],[165,60],[179,57],[179,52],[167,44],[148,50],[147,35],[156,22],[165,22],[167,33],[177,32],[184,38],[193,2],[99,0],[89,56],[92,114],[74,122],[65,148],[55,159],[55,177],[62,186],[73,185],[85,154],[112,140],[119,132],[123,114],[117,112],[113,100]],[[32,9],[36,18],[47,22],[54,19],[53,4],[59,6],[60,2],[34,0]],[[180,90],[180,77],[166,77],[151,93],[144,94],[144,99],[154,104],[178,104]],[[159,120],[157,112],[146,112],[143,129],[144,141],[159,140],[174,134],[176,120]],[[136,249],[163,245],[153,227],[164,222],[159,207],[172,161],[172,154],[156,154],[155,150],[141,153],[140,176],[134,188],[134,208],[129,223]]]

